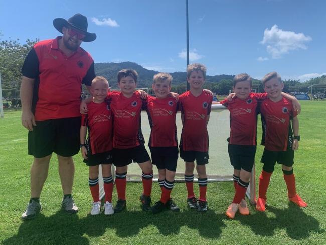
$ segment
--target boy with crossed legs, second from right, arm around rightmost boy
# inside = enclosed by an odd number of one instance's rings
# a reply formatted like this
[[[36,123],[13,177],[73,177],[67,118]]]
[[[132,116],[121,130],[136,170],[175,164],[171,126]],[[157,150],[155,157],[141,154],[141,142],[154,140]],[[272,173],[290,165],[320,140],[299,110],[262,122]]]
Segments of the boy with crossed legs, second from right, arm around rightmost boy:
[[[244,198],[255,161],[259,104],[267,98],[266,93],[252,93],[251,86],[252,78],[247,73],[238,74],[233,79],[235,98],[221,101],[221,104],[230,111],[231,130],[228,138],[228,152],[234,168],[235,195],[225,214],[231,219],[234,218],[238,209],[242,215],[249,214]],[[300,106],[295,97],[286,93],[282,95],[295,101],[293,105]]]

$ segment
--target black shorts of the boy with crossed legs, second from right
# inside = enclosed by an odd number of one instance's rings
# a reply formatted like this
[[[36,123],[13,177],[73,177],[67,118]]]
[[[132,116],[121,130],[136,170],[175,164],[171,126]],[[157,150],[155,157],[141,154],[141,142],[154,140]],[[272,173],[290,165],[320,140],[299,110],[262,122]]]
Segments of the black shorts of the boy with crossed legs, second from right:
[[[252,171],[255,162],[256,146],[228,145],[231,165],[234,169]]]

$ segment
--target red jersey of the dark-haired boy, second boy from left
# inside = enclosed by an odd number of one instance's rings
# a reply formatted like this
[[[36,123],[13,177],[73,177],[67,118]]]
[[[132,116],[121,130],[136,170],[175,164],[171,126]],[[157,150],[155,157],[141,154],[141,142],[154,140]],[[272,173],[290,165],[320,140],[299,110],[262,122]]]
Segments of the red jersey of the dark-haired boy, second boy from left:
[[[146,102],[136,93],[131,98],[127,98],[121,92],[109,92],[107,99],[111,100],[114,116],[113,147],[127,149],[144,144],[140,112]]]

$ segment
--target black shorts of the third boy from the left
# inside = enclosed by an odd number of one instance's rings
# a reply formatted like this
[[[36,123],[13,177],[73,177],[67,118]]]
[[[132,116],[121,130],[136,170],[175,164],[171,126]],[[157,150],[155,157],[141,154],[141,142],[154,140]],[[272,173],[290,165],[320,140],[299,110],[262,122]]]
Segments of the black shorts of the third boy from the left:
[[[167,169],[176,172],[179,151],[178,147],[149,147],[151,161],[157,169]]]

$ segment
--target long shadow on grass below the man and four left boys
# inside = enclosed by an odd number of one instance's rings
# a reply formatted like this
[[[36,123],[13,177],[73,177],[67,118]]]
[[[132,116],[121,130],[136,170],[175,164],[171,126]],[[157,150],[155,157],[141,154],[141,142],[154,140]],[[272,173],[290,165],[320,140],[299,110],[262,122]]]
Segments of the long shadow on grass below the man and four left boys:
[[[184,210],[179,213],[165,211],[156,215],[151,212],[124,211],[112,216],[103,213],[97,216],[90,214],[84,218],[69,215],[62,211],[50,217],[40,213],[34,220],[24,221],[16,235],[3,241],[3,244],[89,244],[85,235],[99,237],[106,229],[116,236],[128,238],[136,236],[148,227],[155,226],[161,235],[173,235],[180,232],[182,226],[197,230],[199,235],[208,239],[218,239],[221,228],[225,227],[224,215],[217,215],[209,210],[198,213]],[[155,232],[155,231],[154,231]]]

